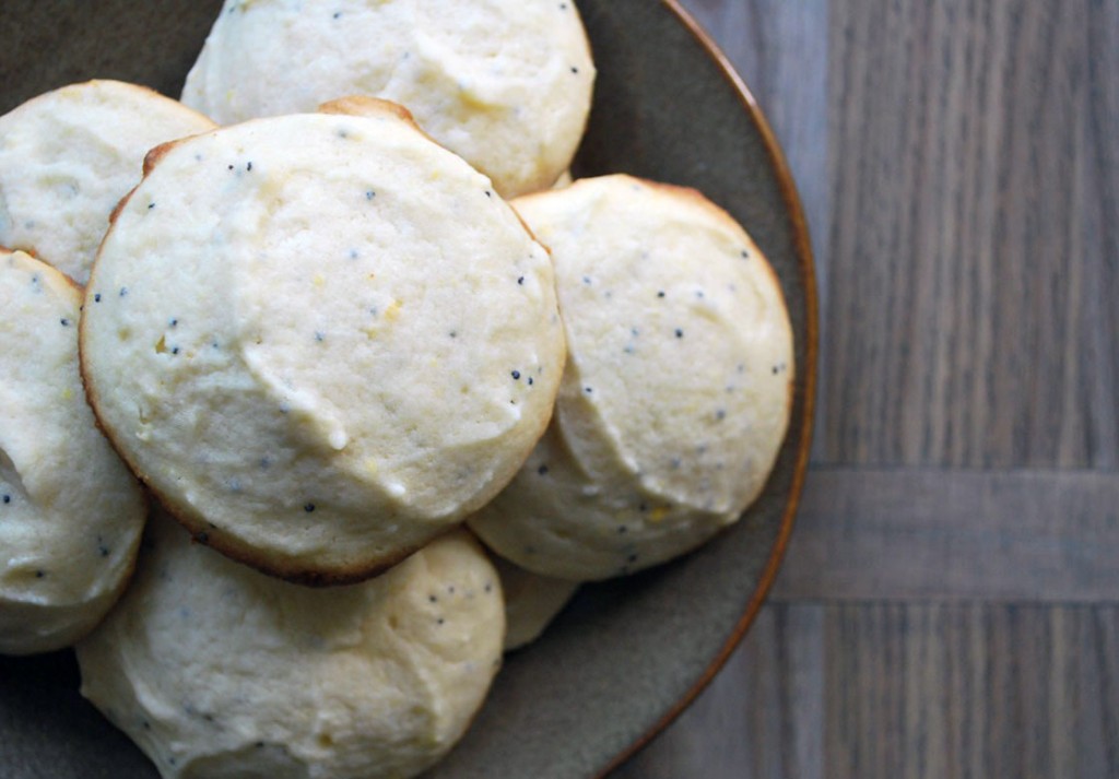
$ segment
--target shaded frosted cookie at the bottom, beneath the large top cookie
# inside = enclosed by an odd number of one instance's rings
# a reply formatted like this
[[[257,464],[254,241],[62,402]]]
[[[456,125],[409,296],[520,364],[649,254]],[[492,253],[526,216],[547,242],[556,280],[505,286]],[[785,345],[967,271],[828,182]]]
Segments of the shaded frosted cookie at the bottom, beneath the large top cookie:
[[[504,630],[497,574],[466,531],[321,590],[157,514],[135,581],[77,658],[82,694],[167,779],[399,778],[466,731]]]

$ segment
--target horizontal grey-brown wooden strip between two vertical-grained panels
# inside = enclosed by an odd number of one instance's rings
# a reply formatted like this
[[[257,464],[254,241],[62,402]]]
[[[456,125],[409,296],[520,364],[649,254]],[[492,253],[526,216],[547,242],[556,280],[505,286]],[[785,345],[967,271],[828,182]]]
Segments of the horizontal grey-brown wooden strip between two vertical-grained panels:
[[[771,598],[1119,603],[1119,475],[816,468]]]

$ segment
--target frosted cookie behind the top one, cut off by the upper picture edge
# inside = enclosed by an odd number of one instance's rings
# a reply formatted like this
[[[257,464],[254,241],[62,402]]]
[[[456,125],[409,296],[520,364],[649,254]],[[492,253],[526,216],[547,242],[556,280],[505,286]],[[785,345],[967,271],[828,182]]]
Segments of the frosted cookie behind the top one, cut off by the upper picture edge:
[[[182,101],[229,124],[384,97],[513,197],[571,163],[594,75],[573,2],[226,0]]]

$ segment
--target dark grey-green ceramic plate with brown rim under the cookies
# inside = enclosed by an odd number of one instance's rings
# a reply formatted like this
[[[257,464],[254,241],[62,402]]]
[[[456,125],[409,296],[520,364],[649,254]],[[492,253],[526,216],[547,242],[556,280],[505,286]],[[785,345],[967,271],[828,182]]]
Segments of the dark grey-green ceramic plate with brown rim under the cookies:
[[[560,0],[555,0],[558,2]],[[120,78],[177,96],[219,0],[3,0],[0,113],[49,88]],[[586,586],[544,638],[507,657],[462,743],[432,776],[608,772],[698,693],[777,572],[808,454],[816,300],[803,215],[753,98],[675,2],[581,0],[599,68],[575,172],[693,186],[773,264],[796,336],[784,447],[761,499],[698,552]],[[0,658],[0,760],[10,779],[140,779],[154,769],[77,694],[70,653]]]

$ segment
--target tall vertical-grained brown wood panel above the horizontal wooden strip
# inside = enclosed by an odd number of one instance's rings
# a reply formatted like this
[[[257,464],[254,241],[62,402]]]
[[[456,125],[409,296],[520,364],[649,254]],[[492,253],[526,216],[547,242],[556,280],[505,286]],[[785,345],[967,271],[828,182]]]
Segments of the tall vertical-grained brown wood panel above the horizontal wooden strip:
[[[1116,467],[1107,4],[830,3],[826,461]]]

